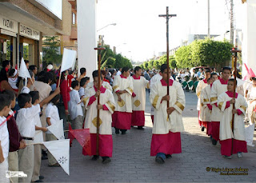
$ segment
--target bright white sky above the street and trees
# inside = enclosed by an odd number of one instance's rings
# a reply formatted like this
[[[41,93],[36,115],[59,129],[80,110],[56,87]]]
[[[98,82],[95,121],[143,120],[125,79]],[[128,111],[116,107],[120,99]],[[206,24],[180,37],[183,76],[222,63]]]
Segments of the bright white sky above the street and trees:
[[[226,4],[227,2],[227,4]],[[240,0],[234,0],[239,10]],[[239,2],[239,3],[238,3]],[[166,52],[166,19],[158,14],[177,14],[170,18],[170,49],[180,46],[188,34],[207,34],[207,0],[98,0],[97,30],[104,42],[118,54],[144,62]],[[224,34],[230,30],[230,0],[210,0],[210,34]],[[234,14],[240,22],[239,14]],[[238,23],[237,23],[238,26]]]

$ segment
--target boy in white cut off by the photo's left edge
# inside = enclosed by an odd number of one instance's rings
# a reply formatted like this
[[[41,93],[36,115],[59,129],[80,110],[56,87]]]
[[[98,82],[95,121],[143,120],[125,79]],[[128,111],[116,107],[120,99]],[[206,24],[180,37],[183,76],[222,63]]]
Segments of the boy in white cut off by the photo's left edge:
[[[6,178],[8,170],[9,133],[6,116],[10,112],[10,97],[0,94],[0,181],[9,182]]]

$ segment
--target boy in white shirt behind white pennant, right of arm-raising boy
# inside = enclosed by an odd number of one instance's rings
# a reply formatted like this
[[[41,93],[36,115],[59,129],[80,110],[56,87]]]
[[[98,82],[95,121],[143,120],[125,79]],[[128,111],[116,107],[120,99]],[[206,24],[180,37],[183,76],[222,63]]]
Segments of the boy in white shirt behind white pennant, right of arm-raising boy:
[[[51,91],[50,94],[51,93],[54,93],[54,91]],[[59,114],[58,114],[58,108],[56,106],[58,104],[59,97],[60,97],[59,94],[56,95],[53,99],[51,99],[50,103],[46,107],[46,127],[49,125],[54,125],[56,124],[56,122],[60,120]],[[57,141],[57,140],[58,138],[55,137],[53,133],[50,133],[49,130],[46,132],[46,141]],[[49,151],[47,153],[47,156],[48,156],[48,166],[50,167],[60,166]]]

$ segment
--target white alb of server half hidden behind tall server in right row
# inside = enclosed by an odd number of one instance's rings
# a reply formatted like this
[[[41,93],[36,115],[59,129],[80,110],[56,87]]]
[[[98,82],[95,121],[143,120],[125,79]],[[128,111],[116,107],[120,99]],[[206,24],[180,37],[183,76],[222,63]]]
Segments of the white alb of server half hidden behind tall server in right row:
[[[201,92],[202,108],[200,110],[200,115],[202,115],[202,121],[211,121],[211,110],[208,108],[207,104],[210,104],[210,85],[206,86]]]

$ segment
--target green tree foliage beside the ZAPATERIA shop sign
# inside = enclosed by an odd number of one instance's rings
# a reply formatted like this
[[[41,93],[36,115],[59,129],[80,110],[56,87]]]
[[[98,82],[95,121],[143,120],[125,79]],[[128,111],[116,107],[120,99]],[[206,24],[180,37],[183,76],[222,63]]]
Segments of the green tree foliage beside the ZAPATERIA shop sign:
[[[60,46],[60,40],[58,39],[58,36],[46,36],[46,39],[43,42],[43,61],[47,64],[49,63],[55,63],[59,64],[62,62],[62,55],[58,54],[58,49]]]

